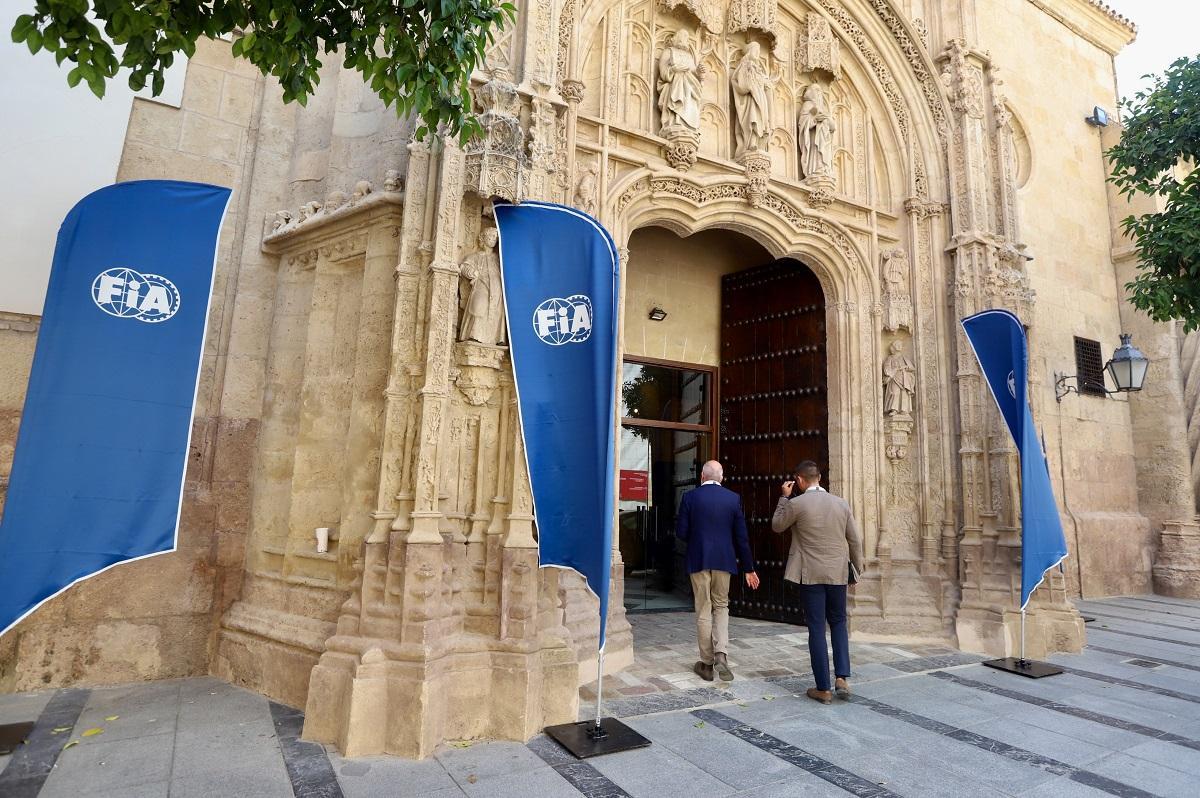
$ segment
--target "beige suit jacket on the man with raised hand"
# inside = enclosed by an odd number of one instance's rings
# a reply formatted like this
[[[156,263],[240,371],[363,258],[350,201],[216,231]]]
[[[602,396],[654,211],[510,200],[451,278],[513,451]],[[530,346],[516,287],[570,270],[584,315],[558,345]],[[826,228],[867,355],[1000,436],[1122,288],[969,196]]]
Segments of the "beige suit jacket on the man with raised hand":
[[[791,530],[784,578],[798,584],[846,584],[847,564],[863,572],[863,535],[846,499],[828,491],[780,497],[770,528]]]

